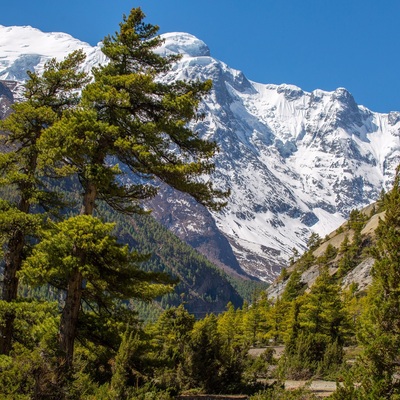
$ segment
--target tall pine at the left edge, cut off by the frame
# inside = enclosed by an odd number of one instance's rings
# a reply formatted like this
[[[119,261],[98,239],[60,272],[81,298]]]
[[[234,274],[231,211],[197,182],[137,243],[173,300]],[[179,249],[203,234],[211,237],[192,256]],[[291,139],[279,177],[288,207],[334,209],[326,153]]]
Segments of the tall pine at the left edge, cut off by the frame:
[[[34,207],[49,211],[59,204],[38,173],[38,140],[43,132],[79,102],[79,89],[88,82],[81,71],[84,54],[70,54],[65,60],[55,59],[45,65],[39,76],[28,72],[24,85],[24,101],[13,106],[14,112],[0,122],[3,152],[0,154],[0,185],[10,198],[0,207],[0,237],[4,248],[2,307],[8,307],[0,324],[0,354],[8,354],[12,345],[14,313],[12,303],[17,298],[18,276],[27,253],[29,236],[34,236],[41,224]]]

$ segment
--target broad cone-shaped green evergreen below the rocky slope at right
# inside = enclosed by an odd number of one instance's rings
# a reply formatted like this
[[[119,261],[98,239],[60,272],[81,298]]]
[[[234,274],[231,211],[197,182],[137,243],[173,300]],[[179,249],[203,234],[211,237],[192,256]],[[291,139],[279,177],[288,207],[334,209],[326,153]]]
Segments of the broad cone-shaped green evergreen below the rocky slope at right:
[[[294,302],[283,368],[292,378],[326,374],[342,362],[350,321],[340,287],[325,268],[309,293]]]

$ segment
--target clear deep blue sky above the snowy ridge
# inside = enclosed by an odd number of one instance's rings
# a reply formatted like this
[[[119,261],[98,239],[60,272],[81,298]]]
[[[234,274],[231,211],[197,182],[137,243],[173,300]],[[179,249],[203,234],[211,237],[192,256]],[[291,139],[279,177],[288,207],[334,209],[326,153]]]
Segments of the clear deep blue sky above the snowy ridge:
[[[400,111],[399,0],[19,0],[2,7],[0,24],[94,45],[132,7],[160,33],[202,39],[213,57],[256,82],[345,87],[373,111]]]

